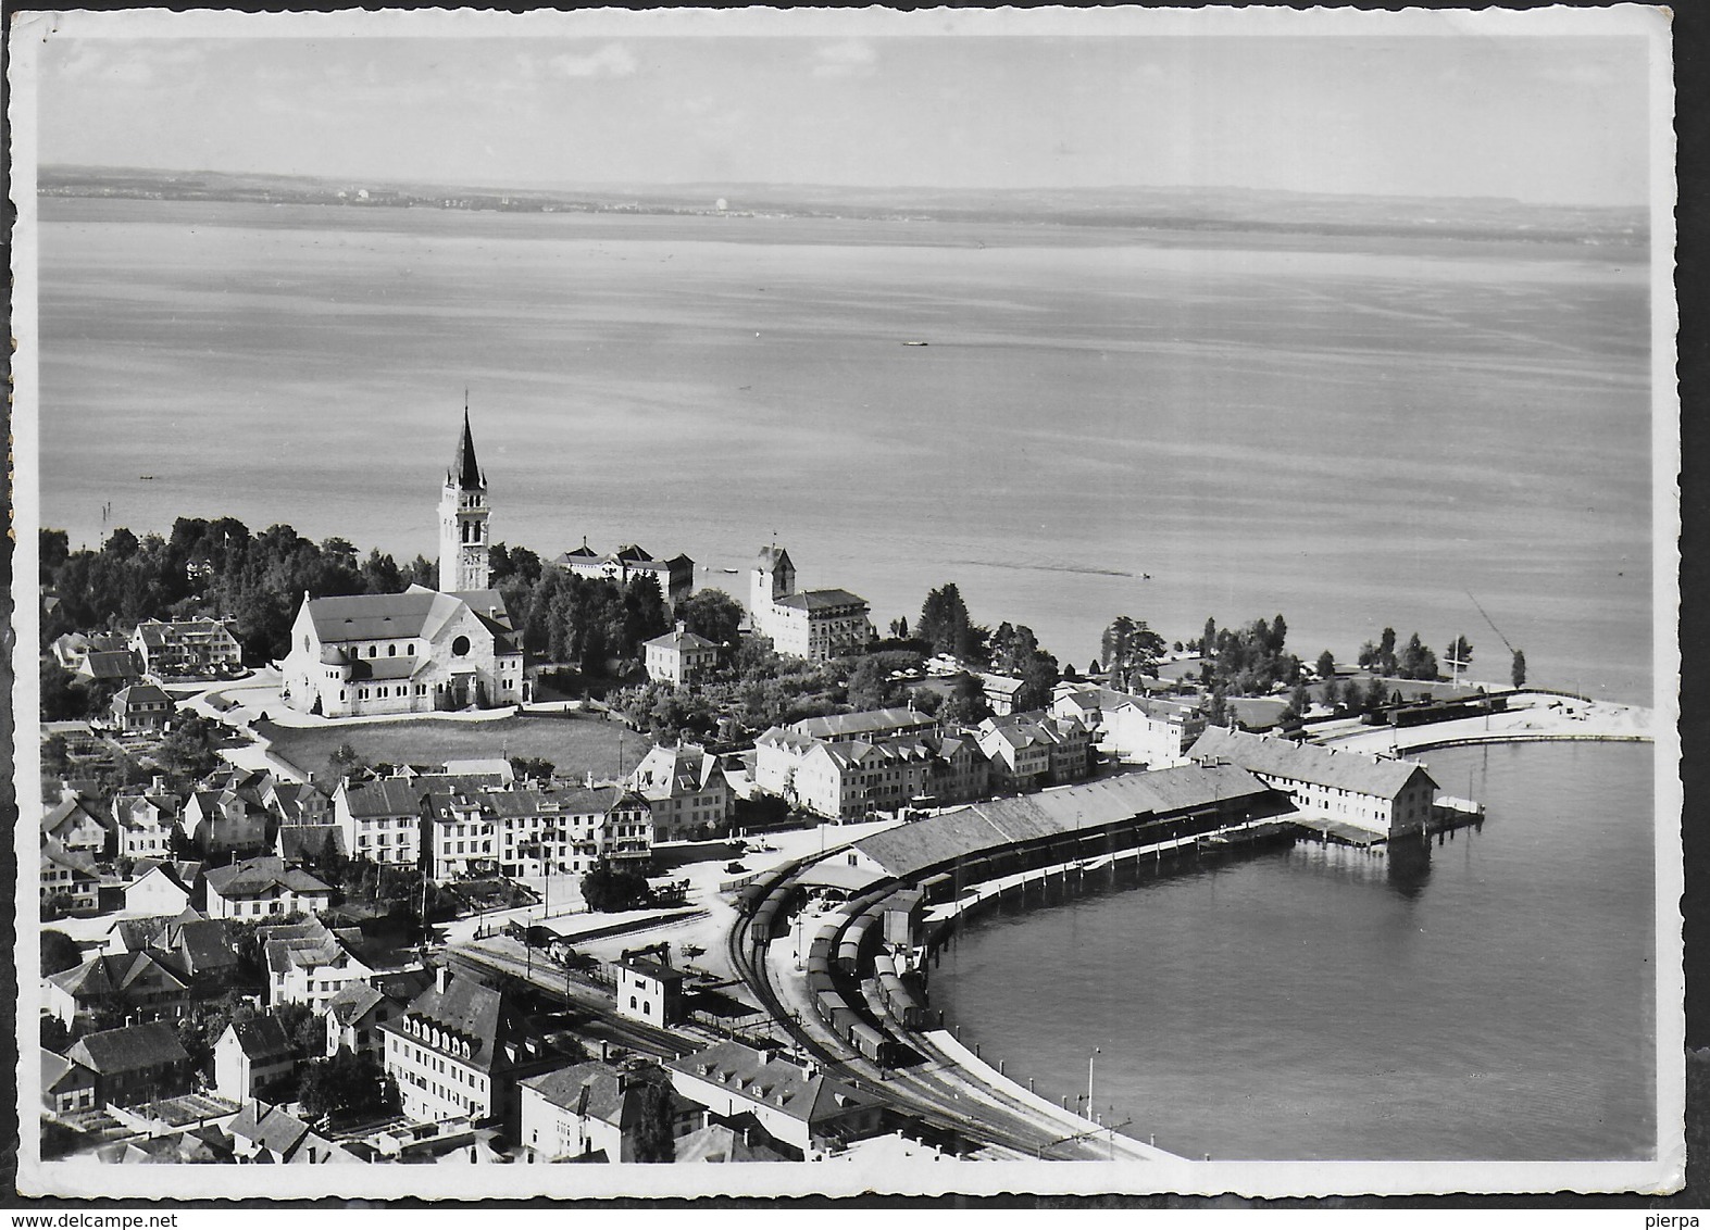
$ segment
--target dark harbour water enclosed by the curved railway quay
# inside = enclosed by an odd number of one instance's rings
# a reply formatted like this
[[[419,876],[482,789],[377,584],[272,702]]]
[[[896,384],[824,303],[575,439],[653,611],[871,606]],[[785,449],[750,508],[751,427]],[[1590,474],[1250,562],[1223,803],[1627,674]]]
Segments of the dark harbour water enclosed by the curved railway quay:
[[[1655,1151],[1652,748],[1435,752],[1489,805],[1426,863],[1296,846],[978,916],[963,1042],[1187,1157]]]

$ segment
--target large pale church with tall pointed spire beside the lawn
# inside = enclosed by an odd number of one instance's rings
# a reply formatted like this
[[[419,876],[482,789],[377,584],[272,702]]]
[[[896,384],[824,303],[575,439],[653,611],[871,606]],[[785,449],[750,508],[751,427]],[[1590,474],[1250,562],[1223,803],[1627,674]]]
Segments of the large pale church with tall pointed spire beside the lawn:
[[[463,434],[439,495],[439,591],[310,598],[291,627],[280,695],[327,718],[522,704],[522,639],[487,569],[487,477]]]

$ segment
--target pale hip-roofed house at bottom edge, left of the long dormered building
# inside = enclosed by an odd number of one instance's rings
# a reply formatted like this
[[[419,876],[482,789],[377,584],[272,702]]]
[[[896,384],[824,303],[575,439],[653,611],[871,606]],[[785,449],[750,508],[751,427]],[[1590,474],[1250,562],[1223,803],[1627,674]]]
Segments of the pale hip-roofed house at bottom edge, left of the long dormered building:
[[[660,1102],[665,1104],[660,1109]],[[646,1117],[669,1121],[675,1141],[701,1124],[701,1107],[672,1088],[657,1066],[592,1061],[520,1081],[522,1145],[530,1162],[640,1162]],[[657,1160],[657,1158],[653,1158]]]

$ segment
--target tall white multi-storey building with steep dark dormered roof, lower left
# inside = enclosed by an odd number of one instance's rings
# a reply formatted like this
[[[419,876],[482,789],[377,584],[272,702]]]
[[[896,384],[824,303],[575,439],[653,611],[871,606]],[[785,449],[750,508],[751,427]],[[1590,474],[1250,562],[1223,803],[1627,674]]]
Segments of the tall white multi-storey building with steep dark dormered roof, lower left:
[[[516,1124],[516,1083],[563,1064],[508,991],[439,969],[402,1016],[376,1027],[404,1114]]]

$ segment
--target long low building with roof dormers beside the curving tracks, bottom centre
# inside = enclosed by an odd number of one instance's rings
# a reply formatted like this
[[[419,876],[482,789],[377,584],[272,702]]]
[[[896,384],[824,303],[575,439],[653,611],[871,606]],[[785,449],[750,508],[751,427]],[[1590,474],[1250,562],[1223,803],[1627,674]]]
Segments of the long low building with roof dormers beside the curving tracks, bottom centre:
[[[665,1064],[682,1097],[715,1116],[752,1116],[773,1141],[799,1157],[884,1131],[884,1109],[811,1063],[742,1042],[720,1042]]]

